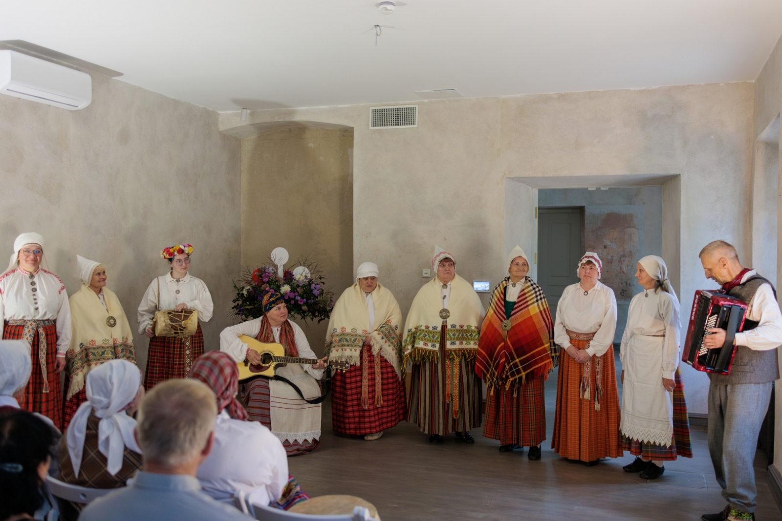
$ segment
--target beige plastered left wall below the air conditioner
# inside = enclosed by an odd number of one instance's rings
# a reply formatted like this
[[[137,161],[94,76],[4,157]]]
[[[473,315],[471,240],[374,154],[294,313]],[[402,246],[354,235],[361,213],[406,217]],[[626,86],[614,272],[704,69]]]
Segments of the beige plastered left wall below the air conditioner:
[[[37,231],[69,294],[77,254],[106,264],[136,331],[142,294],[168,270],[160,250],[189,242],[214,300],[206,348],[217,348],[239,273],[240,147],[217,112],[98,75],[79,111],[0,95],[2,269],[16,235]],[[148,341],[135,342],[143,368]]]

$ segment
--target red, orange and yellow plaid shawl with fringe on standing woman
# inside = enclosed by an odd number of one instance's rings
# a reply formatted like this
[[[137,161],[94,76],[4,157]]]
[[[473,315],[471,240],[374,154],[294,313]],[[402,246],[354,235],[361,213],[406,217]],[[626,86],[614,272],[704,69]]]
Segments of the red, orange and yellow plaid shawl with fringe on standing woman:
[[[526,277],[527,284],[518,292],[518,299],[509,318],[507,334],[502,328],[505,316],[505,287],[510,277],[497,284],[489,311],[483,319],[475,359],[475,373],[491,389],[495,385],[510,385],[526,375],[547,376],[553,369],[551,344],[554,321],[546,296],[540,286]]]

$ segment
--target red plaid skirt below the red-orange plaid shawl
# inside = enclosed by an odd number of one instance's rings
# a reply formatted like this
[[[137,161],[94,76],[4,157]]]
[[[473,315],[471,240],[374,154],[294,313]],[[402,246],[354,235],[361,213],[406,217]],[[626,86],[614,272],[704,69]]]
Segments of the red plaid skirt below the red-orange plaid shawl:
[[[524,384],[509,389],[498,385],[486,396],[483,435],[500,445],[536,447],[546,439],[546,404],[543,399],[545,376],[529,377]],[[518,380],[517,380],[518,381]]]

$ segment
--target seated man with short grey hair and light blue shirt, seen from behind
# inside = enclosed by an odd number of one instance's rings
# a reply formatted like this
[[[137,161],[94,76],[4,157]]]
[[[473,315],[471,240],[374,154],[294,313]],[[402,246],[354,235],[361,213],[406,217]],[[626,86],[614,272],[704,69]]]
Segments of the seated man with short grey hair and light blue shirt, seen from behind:
[[[216,401],[197,380],[167,380],[153,387],[138,409],[135,431],[144,470],[132,484],[93,501],[80,521],[251,519],[204,494],[195,477],[214,444]]]

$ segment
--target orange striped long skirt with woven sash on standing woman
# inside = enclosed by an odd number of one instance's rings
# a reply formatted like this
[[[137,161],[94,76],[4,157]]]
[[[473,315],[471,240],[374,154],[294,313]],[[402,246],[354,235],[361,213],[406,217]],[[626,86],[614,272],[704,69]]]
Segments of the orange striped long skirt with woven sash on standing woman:
[[[568,334],[570,343],[578,349],[588,348],[594,337],[594,334],[570,331]],[[551,448],[562,458],[583,462],[621,457],[614,347],[587,362],[590,364],[588,374],[584,370],[586,364],[579,364],[564,351],[559,360]]]

